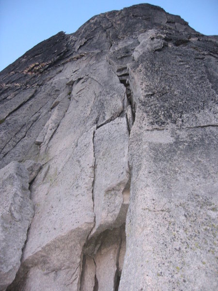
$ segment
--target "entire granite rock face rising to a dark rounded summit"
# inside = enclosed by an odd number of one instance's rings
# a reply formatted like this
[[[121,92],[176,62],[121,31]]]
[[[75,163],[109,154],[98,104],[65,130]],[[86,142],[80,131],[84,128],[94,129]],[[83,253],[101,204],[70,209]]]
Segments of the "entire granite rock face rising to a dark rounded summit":
[[[31,193],[0,290],[217,290],[217,58],[217,36],[140,4],[0,72],[0,179],[16,165]]]

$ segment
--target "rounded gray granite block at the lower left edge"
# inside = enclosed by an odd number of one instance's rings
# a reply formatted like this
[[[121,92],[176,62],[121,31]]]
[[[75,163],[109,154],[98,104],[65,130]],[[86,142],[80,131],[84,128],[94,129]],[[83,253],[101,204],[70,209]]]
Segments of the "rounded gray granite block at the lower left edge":
[[[33,216],[28,171],[18,162],[0,169],[0,290],[12,283]]]

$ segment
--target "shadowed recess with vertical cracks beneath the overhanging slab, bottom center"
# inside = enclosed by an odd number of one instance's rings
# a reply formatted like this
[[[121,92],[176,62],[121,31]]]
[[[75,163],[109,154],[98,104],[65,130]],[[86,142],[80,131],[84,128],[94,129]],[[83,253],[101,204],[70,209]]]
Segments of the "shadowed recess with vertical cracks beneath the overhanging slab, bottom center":
[[[105,255],[104,255],[105,254]],[[125,224],[119,228],[106,229],[93,242],[87,242],[83,254],[80,291],[118,290],[125,256]],[[92,266],[93,265],[93,266]],[[108,269],[108,271],[106,271]]]

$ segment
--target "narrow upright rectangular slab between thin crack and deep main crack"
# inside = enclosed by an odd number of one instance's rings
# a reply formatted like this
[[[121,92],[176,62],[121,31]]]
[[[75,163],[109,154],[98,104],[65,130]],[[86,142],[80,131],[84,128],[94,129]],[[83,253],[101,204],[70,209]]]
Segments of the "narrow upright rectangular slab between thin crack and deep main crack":
[[[129,180],[128,139],[126,117],[119,117],[95,131],[95,226],[90,236],[125,223],[123,192]]]

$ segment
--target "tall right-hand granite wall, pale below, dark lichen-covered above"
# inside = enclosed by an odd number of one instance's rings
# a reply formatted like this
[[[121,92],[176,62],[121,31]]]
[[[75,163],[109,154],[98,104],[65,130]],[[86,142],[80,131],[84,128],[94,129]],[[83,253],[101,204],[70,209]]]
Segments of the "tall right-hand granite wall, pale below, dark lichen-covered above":
[[[198,54],[144,47],[129,65],[137,109],[120,290],[217,289],[217,95]]]

